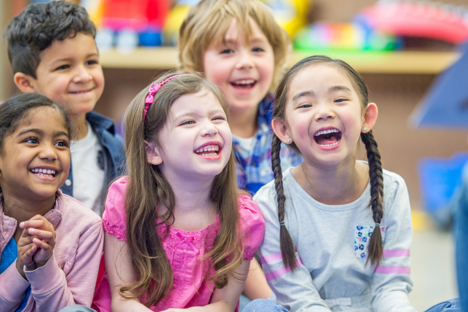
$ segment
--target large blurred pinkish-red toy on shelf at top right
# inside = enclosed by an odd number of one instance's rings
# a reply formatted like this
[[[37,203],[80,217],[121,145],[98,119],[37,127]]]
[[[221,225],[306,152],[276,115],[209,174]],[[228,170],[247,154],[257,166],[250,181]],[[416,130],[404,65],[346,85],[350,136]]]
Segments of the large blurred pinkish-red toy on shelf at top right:
[[[468,39],[468,9],[427,1],[379,1],[355,21],[396,36],[425,37],[459,44]]]

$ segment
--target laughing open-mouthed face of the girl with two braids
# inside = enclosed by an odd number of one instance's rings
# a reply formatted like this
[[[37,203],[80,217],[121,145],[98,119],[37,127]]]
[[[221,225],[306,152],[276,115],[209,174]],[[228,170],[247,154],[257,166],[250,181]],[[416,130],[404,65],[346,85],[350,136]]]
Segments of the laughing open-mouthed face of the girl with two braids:
[[[330,165],[354,159],[365,110],[348,76],[333,65],[316,64],[300,70],[290,86],[287,135],[304,159]]]

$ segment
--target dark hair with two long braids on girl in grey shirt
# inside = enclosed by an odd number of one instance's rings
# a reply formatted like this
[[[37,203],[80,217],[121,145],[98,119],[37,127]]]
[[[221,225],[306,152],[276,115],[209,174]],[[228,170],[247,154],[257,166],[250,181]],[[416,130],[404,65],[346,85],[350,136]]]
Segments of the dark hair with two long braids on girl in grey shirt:
[[[362,108],[365,109],[368,102],[367,86],[364,83],[361,75],[356,72],[350,65],[339,59],[331,59],[327,56],[315,55],[304,58],[297,62],[294,66],[289,69],[281,80],[278,89],[275,94],[275,107],[273,110],[273,118],[285,120],[284,110],[287,103],[288,93],[291,85],[291,81],[295,75],[302,69],[316,64],[327,64],[336,66],[339,70],[344,72],[354,89],[356,89]],[[370,179],[370,203],[369,206],[372,209],[372,217],[375,223],[380,223],[383,217],[383,176],[382,176],[382,163],[380,161],[380,153],[377,149],[377,142],[372,135],[372,130],[367,133],[361,132],[361,140],[364,143],[367,151],[367,160],[369,162],[369,179]],[[300,153],[296,144],[293,142],[289,145],[295,151]],[[281,150],[281,141],[273,135],[273,141],[271,143],[271,167],[273,169],[273,175],[275,177],[275,189],[278,202],[278,219],[281,224],[280,226],[280,245],[283,263],[286,267],[294,270],[297,267],[294,244],[289,235],[289,232],[284,225],[284,203],[286,198],[283,194],[283,183],[281,173],[281,160],[279,153]],[[370,261],[371,265],[379,264],[380,258],[382,257],[383,246],[382,236],[380,233],[380,227],[376,225],[372,232],[372,236],[369,240],[369,252],[367,262]],[[366,263],[367,263],[366,262]]]

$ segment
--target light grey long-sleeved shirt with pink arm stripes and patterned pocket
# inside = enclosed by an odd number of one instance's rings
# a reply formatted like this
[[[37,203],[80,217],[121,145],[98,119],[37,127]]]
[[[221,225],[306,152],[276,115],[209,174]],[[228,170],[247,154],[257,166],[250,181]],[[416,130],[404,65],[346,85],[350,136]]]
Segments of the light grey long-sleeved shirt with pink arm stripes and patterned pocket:
[[[366,266],[367,246],[375,222],[368,204],[370,185],[354,202],[326,205],[310,197],[283,173],[286,196],[284,223],[291,235],[299,266],[283,265],[274,182],[254,196],[265,217],[260,254],[268,284],[279,303],[295,311],[416,312],[408,300],[412,240],[411,210],[405,181],[383,171],[381,223],[383,259]]]

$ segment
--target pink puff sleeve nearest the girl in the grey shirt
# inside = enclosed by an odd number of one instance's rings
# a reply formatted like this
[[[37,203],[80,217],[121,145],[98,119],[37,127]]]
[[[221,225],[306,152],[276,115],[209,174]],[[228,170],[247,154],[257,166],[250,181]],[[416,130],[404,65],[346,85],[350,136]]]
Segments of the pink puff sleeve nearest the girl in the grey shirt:
[[[263,241],[265,219],[257,204],[247,195],[239,196],[239,213],[245,236],[244,260],[252,260]]]

